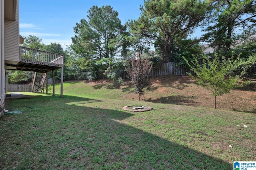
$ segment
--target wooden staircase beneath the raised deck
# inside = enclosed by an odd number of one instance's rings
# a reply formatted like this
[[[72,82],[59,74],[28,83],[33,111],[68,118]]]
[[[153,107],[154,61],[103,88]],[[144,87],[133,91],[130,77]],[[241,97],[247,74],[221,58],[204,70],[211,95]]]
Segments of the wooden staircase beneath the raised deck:
[[[46,81],[47,74],[34,72],[32,78],[32,92],[34,93],[42,93],[44,92],[44,83]]]

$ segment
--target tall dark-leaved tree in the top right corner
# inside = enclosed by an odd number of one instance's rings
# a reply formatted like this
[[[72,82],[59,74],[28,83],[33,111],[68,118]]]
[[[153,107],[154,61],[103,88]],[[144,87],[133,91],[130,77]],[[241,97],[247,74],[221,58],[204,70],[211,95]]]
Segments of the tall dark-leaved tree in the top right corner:
[[[255,29],[256,1],[218,0],[213,3],[212,14],[210,23],[213,24],[204,30],[204,40],[218,54],[230,57],[231,47],[236,46],[237,41],[246,41]]]

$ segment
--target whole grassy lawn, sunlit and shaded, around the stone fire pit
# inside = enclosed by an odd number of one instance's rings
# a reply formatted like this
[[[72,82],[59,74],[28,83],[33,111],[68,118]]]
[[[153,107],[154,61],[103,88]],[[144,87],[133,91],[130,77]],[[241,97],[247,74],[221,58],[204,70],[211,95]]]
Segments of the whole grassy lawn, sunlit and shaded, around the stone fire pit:
[[[256,160],[255,113],[120,99],[133,88],[118,84],[58,90],[6,101],[23,113],[0,119],[0,169],[229,170]],[[154,109],[122,109],[138,104]]]

